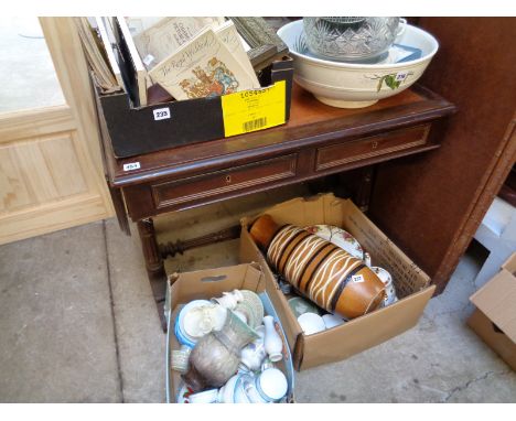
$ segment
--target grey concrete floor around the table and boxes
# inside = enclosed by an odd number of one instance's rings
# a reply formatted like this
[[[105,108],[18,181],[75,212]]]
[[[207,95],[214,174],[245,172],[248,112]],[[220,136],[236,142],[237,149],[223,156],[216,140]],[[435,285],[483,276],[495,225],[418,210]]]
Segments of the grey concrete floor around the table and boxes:
[[[228,227],[299,193],[289,188],[159,218],[160,240]],[[109,219],[0,247],[1,402],[164,401],[165,337],[132,233],[125,236]],[[187,251],[169,259],[166,270],[236,263],[237,248],[234,240]],[[417,327],[297,374],[297,400],[516,402],[516,374],[464,324],[477,260],[463,257]]]

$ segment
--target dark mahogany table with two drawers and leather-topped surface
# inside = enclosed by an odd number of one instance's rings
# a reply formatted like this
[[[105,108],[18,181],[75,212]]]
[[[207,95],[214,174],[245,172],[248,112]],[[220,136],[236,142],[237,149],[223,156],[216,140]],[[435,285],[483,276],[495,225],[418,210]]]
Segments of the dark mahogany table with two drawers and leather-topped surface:
[[[164,252],[152,217],[431,151],[440,145],[443,117],[454,111],[452,104],[421,86],[367,108],[340,109],[321,104],[294,84],[287,125],[126,159],[115,158],[100,125],[117,218],[128,235],[128,216],[138,225],[162,322]],[[135,162],[139,169],[123,170],[123,164]],[[213,241],[237,234],[218,235]]]

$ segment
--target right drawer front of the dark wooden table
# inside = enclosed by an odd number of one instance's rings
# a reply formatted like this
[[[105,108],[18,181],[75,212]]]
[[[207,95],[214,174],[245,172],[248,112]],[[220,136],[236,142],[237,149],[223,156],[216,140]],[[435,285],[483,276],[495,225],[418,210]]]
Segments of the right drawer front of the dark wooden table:
[[[423,125],[319,148],[315,171],[323,171],[356,161],[357,155],[361,156],[361,160],[365,160],[420,147],[427,142],[429,131],[430,125]]]

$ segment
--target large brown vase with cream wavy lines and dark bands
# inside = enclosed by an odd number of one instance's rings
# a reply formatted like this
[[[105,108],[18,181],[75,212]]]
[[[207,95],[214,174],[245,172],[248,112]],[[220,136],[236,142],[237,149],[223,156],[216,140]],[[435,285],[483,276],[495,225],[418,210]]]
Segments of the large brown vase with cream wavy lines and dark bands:
[[[376,310],[385,285],[363,260],[293,225],[260,216],[249,234],[269,265],[302,295],[332,314],[354,319]]]

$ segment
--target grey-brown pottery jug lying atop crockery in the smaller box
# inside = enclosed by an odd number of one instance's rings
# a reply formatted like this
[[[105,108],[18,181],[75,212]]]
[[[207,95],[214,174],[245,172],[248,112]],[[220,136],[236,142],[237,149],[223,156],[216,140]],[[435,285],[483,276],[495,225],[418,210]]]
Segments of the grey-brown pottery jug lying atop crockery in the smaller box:
[[[189,358],[183,380],[194,390],[223,386],[238,369],[240,352],[259,336],[232,311],[221,331],[203,336]]]

